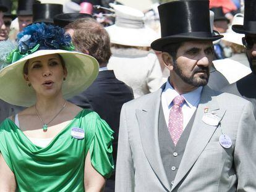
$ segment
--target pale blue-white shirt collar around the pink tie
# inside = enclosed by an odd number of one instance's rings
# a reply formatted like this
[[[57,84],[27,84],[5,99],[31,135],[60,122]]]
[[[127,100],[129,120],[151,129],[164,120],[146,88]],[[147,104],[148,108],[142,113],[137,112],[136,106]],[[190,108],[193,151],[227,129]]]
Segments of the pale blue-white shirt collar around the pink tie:
[[[203,87],[200,86],[194,91],[190,91],[189,93],[182,94],[184,97],[186,104],[192,108],[192,107],[197,107],[200,99],[201,99],[201,93],[202,93]],[[163,96],[164,99],[166,100],[166,103],[168,106],[170,106],[171,102],[173,99],[179,95],[176,90],[174,90],[173,86],[169,83],[169,80],[166,82],[166,86],[163,90]]]

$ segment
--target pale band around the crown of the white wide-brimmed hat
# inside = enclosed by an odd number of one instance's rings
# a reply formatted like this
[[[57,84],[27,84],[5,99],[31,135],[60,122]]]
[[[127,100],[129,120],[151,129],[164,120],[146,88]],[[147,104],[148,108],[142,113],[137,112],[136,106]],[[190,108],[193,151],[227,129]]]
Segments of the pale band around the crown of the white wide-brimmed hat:
[[[123,17],[116,17],[116,26],[127,27],[127,28],[143,28],[143,20],[132,20]]]

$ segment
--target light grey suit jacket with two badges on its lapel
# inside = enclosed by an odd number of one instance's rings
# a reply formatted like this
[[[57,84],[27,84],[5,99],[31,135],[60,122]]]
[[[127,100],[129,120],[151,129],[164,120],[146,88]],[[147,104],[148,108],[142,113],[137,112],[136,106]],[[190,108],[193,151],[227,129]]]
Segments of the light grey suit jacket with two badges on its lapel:
[[[256,191],[256,122],[252,104],[205,86],[173,186],[168,182],[158,141],[162,89],[122,107],[116,191]],[[208,107],[220,126],[202,121]],[[231,148],[219,143],[221,134]]]

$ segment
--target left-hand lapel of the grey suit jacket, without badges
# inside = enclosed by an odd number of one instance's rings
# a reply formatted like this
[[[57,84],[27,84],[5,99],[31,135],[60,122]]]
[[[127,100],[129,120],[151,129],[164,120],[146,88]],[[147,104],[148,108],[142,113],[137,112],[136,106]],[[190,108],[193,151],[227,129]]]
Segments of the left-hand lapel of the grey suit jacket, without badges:
[[[152,94],[150,104],[144,109],[136,110],[136,117],[139,123],[140,140],[143,151],[156,176],[168,191],[171,187],[164,171],[158,141],[158,117],[160,110],[162,89]]]

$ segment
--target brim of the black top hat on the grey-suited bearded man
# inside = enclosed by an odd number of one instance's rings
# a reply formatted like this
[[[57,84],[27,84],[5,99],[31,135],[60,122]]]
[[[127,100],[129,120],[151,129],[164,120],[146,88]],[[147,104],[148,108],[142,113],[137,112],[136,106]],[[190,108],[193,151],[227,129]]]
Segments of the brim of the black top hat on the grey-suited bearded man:
[[[160,38],[158,40],[153,41],[151,43],[151,48],[155,49],[156,51],[164,51],[164,46],[171,44],[171,43],[179,43],[182,41],[216,41],[223,38],[223,35],[215,35],[215,36],[189,36],[189,35],[173,35],[173,36],[165,36],[164,38]]]

